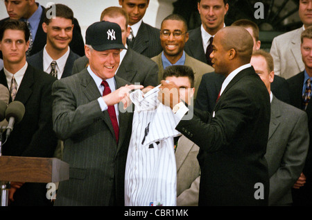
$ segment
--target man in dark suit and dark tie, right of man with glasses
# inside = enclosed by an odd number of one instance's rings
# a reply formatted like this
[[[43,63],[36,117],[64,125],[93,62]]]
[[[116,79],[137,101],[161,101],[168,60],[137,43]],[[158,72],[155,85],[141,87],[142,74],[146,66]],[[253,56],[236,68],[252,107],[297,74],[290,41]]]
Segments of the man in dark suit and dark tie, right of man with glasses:
[[[209,58],[212,51],[211,43],[214,35],[225,26],[227,10],[229,10],[227,0],[198,0],[202,25],[189,31],[189,41],[184,48],[189,56],[211,65],[211,58]]]

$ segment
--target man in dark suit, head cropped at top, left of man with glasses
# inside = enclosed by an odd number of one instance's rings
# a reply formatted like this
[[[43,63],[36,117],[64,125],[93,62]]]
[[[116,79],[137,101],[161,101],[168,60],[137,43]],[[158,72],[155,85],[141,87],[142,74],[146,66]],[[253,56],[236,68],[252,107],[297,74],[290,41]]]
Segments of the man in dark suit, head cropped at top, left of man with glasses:
[[[119,5],[128,13],[130,35],[128,46],[148,58],[162,51],[159,29],[142,21],[150,0],[119,0]]]

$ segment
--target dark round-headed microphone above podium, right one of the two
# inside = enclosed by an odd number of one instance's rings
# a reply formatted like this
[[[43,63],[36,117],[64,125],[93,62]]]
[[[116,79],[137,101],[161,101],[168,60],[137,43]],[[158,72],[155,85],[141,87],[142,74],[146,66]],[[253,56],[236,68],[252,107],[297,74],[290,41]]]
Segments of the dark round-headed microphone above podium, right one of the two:
[[[8,105],[8,108],[6,109],[6,120],[8,121],[8,126],[6,127],[6,138],[10,136],[15,122],[18,124],[21,119],[23,119],[24,114],[25,106],[20,101],[12,101]]]

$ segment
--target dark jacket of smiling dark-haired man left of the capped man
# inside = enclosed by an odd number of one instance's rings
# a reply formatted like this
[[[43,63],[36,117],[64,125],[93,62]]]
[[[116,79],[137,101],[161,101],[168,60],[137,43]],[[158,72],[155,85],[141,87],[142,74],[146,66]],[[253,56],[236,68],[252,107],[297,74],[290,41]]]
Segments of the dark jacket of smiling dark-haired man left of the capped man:
[[[29,58],[27,58],[27,62],[31,64],[33,67],[43,70],[43,52],[44,52],[44,49],[42,49],[38,53],[35,53],[33,56],[30,56]],[[75,62],[75,60],[77,60],[78,58],[80,58],[78,54],[73,53],[73,51],[69,51],[69,56],[67,58],[67,61],[64,67],[62,78],[71,76],[71,71],[73,69],[73,62]]]

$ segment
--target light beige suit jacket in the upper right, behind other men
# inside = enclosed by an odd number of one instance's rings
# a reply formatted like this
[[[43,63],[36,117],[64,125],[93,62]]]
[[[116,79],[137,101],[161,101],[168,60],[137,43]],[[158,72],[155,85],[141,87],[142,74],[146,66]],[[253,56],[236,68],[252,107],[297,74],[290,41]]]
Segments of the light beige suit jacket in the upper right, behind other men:
[[[273,39],[270,54],[274,60],[274,71],[277,76],[287,79],[304,70],[300,51],[302,31],[303,26]]]

